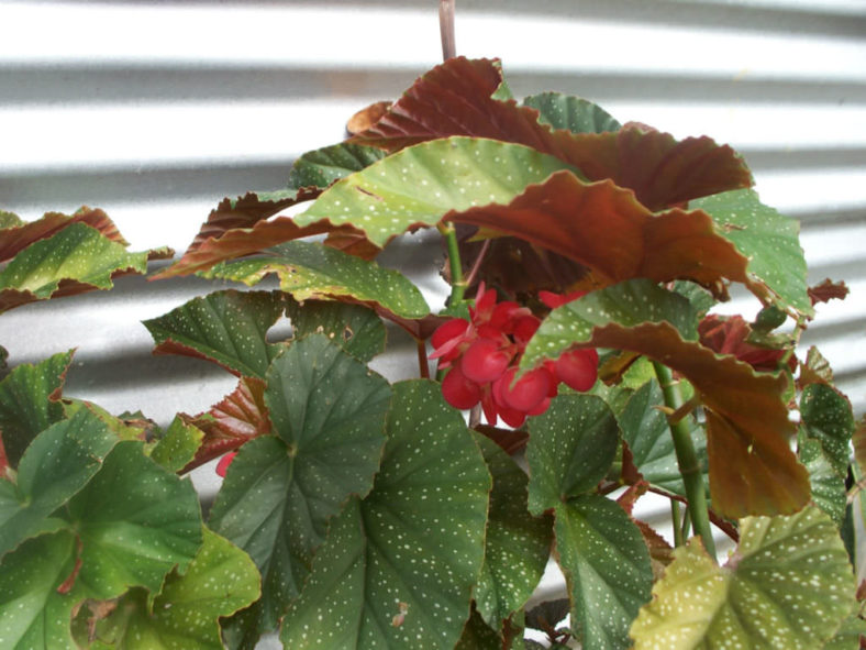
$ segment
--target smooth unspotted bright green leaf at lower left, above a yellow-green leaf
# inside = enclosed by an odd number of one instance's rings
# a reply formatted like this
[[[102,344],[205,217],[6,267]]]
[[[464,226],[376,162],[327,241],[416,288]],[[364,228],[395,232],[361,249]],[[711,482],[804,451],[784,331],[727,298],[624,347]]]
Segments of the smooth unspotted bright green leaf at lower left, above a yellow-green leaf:
[[[113,598],[131,586],[157,593],[165,575],[184,571],[201,546],[196,489],[144,455],[141,442],[119,442],[99,473],[68,505],[81,541],[78,580]]]

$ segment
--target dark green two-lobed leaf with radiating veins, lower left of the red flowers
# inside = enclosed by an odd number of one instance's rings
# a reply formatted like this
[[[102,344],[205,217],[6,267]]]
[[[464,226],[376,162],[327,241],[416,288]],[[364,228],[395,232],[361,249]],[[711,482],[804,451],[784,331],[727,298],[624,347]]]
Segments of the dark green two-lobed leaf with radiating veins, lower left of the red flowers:
[[[254,641],[275,629],[300,593],[329,519],[373,486],[385,443],[388,383],[311,334],[267,373],[276,436],[246,444],[229,467],[210,526],[244,549],[263,575],[263,597],[234,617],[231,634]]]

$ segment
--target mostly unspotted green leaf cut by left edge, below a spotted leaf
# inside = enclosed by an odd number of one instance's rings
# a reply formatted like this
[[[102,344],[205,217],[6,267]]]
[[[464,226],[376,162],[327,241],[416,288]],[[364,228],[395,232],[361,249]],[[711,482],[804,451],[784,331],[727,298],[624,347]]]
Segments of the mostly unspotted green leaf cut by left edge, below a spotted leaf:
[[[86,409],[40,433],[21,459],[18,484],[0,480],[0,557],[56,530],[62,524],[51,516],[92,480],[116,442]]]

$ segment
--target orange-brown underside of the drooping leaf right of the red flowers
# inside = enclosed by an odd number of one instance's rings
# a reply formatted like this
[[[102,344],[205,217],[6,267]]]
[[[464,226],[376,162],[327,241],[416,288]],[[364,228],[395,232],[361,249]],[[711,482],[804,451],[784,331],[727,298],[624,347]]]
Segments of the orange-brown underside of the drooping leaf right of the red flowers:
[[[579,346],[640,352],[695,386],[707,412],[713,510],[731,519],[790,514],[809,500],[809,475],[788,443],[795,427],[784,376],[755,373],[733,356],[684,341],[666,322],[599,327]]]

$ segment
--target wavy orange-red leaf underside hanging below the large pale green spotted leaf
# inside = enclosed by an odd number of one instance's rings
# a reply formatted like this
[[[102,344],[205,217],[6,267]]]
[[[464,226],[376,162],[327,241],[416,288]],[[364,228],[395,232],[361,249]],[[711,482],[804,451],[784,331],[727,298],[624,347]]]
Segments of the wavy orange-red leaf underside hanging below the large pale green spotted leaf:
[[[748,283],[747,260],[702,211],[653,213],[610,180],[586,184],[569,172],[532,185],[508,206],[490,205],[446,220],[520,238],[575,260],[597,286],[630,278],[690,279],[725,297],[722,278]]]

